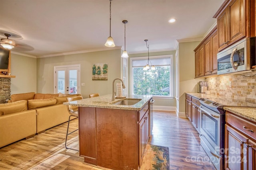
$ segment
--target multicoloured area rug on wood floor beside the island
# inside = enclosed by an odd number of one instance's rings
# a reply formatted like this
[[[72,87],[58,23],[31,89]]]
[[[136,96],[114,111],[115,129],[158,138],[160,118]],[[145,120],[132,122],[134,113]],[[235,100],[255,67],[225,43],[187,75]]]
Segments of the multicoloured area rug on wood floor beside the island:
[[[146,145],[140,170],[169,170],[169,148]]]

